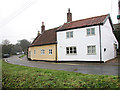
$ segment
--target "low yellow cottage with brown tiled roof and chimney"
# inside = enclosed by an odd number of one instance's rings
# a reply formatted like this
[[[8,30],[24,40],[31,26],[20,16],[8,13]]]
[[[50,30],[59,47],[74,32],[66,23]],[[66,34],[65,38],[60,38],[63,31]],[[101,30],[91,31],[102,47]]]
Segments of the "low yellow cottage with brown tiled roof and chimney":
[[[28,48],[28,59],[31,60],[57,60],[57,42],[56,42],[56,30],[53,28],[45,30],[45,25],[42,22],[40,34],[35,38],[33,43]]]

